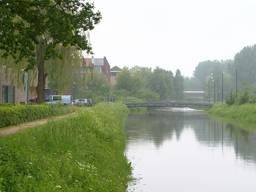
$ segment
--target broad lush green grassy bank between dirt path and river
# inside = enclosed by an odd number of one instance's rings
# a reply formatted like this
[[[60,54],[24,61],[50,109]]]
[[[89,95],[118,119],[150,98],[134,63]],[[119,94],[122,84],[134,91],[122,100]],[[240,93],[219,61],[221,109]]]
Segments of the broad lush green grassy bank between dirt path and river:
[[[0,139],[0,191],[124,192],[123,105],[100,104],[78,116]]]

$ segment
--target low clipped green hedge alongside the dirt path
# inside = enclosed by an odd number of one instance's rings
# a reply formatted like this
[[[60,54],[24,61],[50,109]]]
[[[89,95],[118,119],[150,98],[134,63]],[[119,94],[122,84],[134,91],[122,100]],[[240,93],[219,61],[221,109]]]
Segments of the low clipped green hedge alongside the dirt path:
[[[73,111],[63,105],[0,105],[0,128]]]

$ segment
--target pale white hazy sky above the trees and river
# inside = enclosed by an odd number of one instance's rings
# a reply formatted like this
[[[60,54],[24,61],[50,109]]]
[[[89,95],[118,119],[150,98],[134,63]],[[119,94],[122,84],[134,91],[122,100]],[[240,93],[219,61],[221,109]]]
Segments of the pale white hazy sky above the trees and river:
[[[181,69],[232,59],[256,43],[256,0],[95,0],[103,19],[91,32],[111,66]]]

